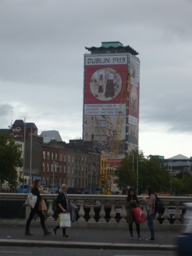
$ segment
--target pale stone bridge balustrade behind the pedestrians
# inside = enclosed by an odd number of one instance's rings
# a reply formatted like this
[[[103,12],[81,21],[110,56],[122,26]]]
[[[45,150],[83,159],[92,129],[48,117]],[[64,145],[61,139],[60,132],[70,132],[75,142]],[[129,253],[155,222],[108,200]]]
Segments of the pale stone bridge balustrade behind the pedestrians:
[[[55,195],[43,194],[41,195],[45,200],[48,210],[46,213],[47,221],[55,221],[53,218],[52,203],[56,198]],[[126,196],[121,195],[68,195],[69,200],[76,204],[79,208],[77,222],[91,223],[103,223],[106,225],[110,224],[122,224],[126,225]],[[138,196],[141,205],[143,206],[143,212],[147,217],[147,207],[143,201],[143,196]],[[22,201],[22,204],[27,199],[26,194],[19,193],[0,193],[0,205],[3,205],[3,201]],[[156,214],[155,221],[158,224],[181,224],[183,216],[185,216],[185,207],[183,203],[192,202],[192,197],[177,197],[177,196],[160,196],[164,204],[164,213]],[[0,207],[1,208],[1,207]],[[116,213],[116,209],[120,209],[119,213]],[[169,213],[172,209],[172,213]],[[3,210],[0,209],[0,210]],[[116,210],[116,211],[115,211]],[[24,220],[28,217],[30,208],[26,207],[26,214]],[[1,220],[2,218],[0,218]],[[0,222],[1,223],[1,222]],[[114,225],[113,225],[114,226]]]

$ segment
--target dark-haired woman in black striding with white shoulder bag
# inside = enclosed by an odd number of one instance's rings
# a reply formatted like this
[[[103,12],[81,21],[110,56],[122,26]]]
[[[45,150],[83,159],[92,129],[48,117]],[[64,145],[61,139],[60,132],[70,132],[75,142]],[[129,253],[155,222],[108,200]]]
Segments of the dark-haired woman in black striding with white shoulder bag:
[[[41,196],[39,193],[40,185],[41,185],[40,180],[34,180],[34,185],[32,186],[31,193],[34,194],[35,196],[37,196],[37,201],[36,201],[35,207],[31,208],[30,216],[28,217],[28,220],[26,223],[26,233],[25,233],[26,236],[33,236],[33,234],[30,233],[30,224],[31,224],[32,219],[35,216],[35,213],[37,213],[40,217],[40,222],[41,222],[41,226],[44,231],[44,236],[52,233],[52,232],[48,232],[48,230],[45,228],[44,215],[43,215],[42,210],[39,210],[39,204],[41,201]]]

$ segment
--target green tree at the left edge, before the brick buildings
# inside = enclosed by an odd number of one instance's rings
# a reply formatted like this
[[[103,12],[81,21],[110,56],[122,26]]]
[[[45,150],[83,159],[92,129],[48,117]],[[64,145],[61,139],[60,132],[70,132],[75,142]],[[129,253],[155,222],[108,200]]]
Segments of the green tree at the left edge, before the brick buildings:
[[[18,174],[16,168],[23,166],[20,144],[15,143],[10,133],[0,134],[0,183],[9,182],[11,189],[16,189]]]

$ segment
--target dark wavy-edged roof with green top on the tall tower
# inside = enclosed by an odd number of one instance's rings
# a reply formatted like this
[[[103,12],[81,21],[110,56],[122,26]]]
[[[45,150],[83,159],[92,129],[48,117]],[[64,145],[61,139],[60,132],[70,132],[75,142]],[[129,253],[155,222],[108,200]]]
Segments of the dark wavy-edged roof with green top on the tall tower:
[[[119,41],[113,41],[113,42],[102,42],[101,47],[85,47],[88,51],[91,52],[91,54],[94,53],[131,53],[132,55],[138,55],[139,53],[135,51],[130,46],[123,46],[122,43]]]

